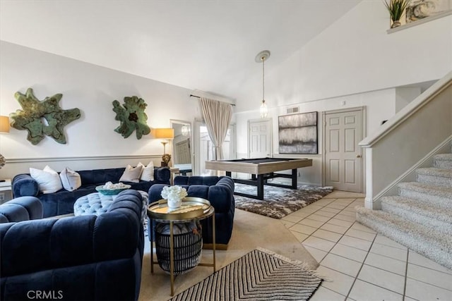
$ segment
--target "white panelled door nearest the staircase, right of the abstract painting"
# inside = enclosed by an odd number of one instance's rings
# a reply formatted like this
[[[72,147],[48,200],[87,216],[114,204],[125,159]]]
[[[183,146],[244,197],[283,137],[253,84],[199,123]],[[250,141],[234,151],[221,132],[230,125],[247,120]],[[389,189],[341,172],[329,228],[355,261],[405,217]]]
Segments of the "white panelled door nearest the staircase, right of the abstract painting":
[[[362,192],[362,109],[325,113],[325,180],[336,190]]]

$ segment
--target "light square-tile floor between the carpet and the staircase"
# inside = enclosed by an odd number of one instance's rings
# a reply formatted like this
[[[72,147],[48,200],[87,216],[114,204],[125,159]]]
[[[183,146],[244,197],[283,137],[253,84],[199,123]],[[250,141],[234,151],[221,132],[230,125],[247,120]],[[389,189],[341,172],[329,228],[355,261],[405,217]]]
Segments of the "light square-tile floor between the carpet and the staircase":
[[[364,195],[335,191],[282,221],[326,278],[311,301],[452,300],[452,270],[355,221]]]

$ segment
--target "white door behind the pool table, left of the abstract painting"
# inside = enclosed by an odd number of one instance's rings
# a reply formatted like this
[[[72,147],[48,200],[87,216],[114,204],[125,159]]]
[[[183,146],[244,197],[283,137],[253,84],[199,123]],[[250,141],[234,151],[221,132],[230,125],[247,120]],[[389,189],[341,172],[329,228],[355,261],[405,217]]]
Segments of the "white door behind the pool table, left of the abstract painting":
[[[271,119],[248,121],[248,157],[272,156]]]

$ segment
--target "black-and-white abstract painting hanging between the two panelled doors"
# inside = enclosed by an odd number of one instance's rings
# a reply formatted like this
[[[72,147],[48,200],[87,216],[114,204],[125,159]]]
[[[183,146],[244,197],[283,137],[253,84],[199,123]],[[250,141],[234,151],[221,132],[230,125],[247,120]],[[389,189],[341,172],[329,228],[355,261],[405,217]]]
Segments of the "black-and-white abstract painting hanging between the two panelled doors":
[[[317,154],[317,112],[278,117],[280,154]]]

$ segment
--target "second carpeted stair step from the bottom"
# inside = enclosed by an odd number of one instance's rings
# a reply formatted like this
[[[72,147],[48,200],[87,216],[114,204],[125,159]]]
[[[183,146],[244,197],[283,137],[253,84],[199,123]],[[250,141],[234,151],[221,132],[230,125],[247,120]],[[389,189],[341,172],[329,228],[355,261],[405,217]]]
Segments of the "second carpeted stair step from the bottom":
[[[432,203],[408,197],[382,197],[381,209],[446,234],[452,233],[452,209],[434,207]]]

